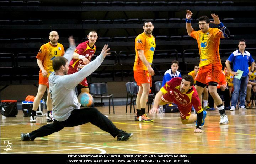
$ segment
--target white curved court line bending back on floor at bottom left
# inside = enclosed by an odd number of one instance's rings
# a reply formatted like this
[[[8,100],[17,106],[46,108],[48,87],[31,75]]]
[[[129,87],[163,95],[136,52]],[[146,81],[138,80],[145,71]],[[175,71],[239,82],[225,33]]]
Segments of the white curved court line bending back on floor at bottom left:
[[[47,150],[47,151],[30,151],[30,152],[12,152],[12,153],[3,153],[3,154],[17,154],[17,153],[41,153],[41,152],[54,152],[54,151],[69,151],[69,150],[79,150],[79,149],[95,149],[100,151],[100,154],[105,154],[106,151],[100,148],[95,148],[95,147],[86,147],[86,146],[67,146],[67,145],[18,145],[18,146],[12,146],[12,147],[31,147],[31,146],[36,146],[36,147],[81,147],[77,149],[58,149],[58,150]],[[1,147],[6,147],[6,146],[1,146]],[[103,147],[102,147],[103,148]],[[2,152],[1,152],[2,153]]]

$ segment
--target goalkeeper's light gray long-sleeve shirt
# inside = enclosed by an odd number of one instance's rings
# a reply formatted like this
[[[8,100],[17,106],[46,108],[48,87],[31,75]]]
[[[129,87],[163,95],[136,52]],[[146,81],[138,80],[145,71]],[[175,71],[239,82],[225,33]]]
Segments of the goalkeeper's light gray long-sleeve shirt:
[[[70,63],[74,47],[67,49],[64,57]],[[49,90],[52,98],[53,117],[57,121],[65,121],[74,109],[80,108],[81,104],[75,92],[75,87],[84,78],[94,72],[103,62],[104,56],[100,54],[94,61],[84,66],[79,72],[70,75],[55,75],[53,72],[49,76]]]

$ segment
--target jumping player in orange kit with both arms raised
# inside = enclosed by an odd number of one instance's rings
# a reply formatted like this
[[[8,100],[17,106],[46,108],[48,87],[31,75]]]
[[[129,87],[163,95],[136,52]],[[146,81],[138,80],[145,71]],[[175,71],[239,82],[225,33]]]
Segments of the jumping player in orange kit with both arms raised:
[[[208,85],[209,93],[212,95],[214,102],[217,104],[220,113],[220,124],[228,124],[228,116],[225,114],[224,105],[217,93],[217,85],[220,82],[219,77],[222,73],[222,64],[219,55],[220,38],[229,38],[229,30],[220,22],[218,15],[211,14],[214,21],[210,21],[207,16],[199,18],[199,28],[201,30],[194,31],[191,26],[190,18],[193,13],[187,10],[186,14],[186,29],[188,35],[197,40],[200,54],[200,69],[197,73],[196,90],[199,98],[202,101],[202,92]],[[210,23],[217,24],[218,28],[210,28]]]

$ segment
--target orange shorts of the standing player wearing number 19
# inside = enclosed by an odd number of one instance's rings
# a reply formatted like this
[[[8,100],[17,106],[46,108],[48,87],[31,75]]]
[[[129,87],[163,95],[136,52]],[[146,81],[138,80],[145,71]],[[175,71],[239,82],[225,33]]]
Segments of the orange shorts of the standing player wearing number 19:
[[[141,84],[149,83],[152,87],[152,76],[149,75],[148,71],[133,71],[133,77],[137,83],[137,86],[142,86]]]

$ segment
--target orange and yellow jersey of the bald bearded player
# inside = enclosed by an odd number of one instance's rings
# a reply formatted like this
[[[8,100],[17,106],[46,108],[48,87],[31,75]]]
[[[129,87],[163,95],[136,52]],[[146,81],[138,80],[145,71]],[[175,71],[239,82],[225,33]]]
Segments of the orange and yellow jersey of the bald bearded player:
[[[50,74],[54,71],[52,67],[53,59],[57,56],[63,56],[64,53],[64,47],[60,43],[57,43],[57,45],[54,46],[48,42],[40,47],[36,58],[42,61],[44,69],[48,72],[47,77],[49,77]],[[41,69],[40,72],[42,72]]]

